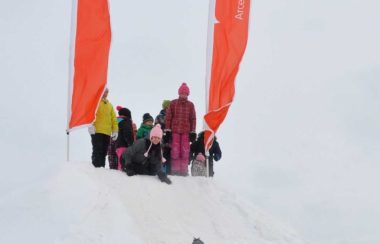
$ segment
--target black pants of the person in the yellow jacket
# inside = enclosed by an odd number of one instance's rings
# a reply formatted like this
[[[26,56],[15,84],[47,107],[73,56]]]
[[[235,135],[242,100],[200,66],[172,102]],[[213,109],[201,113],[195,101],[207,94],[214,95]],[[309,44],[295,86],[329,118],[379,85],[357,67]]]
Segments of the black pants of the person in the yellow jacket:
[[[91,135],[92,143],[92,164],[95,167],[104,167],[106,165],[107,149],[110,143],[110,136],[96,133]]]

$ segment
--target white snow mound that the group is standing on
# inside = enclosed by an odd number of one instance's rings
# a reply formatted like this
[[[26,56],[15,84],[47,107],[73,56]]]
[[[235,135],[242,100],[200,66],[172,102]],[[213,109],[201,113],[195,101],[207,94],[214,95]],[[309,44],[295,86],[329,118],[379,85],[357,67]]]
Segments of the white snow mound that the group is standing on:
[[[213,179],[171,176],[167,185],[89,162],[65,162],[46,178],[3,196],[0,243],[305,243]]]

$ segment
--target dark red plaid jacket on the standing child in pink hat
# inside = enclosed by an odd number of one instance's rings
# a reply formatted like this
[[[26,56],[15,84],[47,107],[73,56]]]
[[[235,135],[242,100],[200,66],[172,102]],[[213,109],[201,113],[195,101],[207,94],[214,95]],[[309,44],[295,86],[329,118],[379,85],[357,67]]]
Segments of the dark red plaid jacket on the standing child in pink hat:
[[[174,99],[166,110],[165,128],[172,133],[195,132],[197,118],[194,104],[187,99]]]

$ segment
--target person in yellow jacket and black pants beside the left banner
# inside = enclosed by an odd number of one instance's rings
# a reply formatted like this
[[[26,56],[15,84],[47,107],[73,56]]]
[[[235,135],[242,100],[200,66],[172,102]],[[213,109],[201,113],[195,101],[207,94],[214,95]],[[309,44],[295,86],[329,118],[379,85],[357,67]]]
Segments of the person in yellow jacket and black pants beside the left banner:
[[[92,143],[92,164],[104,167],[110,139],[116,141],[119,127],[112,104],[107,99],[108,88],[105,89],[96,111],[95,121],[88,128]]]

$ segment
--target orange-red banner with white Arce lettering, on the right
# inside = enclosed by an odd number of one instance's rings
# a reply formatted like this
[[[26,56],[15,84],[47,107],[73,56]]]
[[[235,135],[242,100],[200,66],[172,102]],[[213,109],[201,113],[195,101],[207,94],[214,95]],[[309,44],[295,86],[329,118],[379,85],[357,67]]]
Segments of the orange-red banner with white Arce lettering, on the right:
[[[235,77],[248,39],[250,0],[217,0],[205,145],[224,121],[235,95]],[[213,17],[213,16],[212,16]]]

